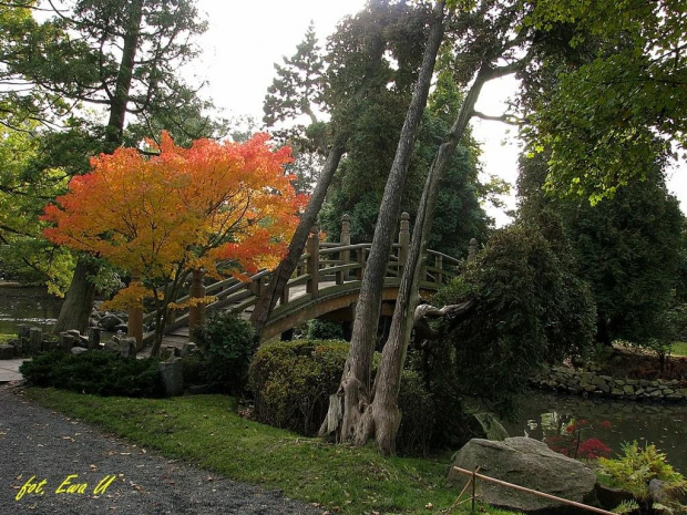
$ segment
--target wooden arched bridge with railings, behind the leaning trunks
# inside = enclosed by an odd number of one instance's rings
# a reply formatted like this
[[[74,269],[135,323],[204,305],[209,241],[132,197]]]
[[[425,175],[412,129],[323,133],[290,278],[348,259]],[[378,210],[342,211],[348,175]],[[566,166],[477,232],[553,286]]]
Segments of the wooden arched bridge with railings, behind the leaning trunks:
[[[408,259],[409,243],[409,216],[403,213],[399,238],[393,245],[387,267],[382,315],[393,312],[400,277]],[[339,243],[320,241],[317,226],[314,227],[298,268],[271,311],[263,339],[274,338],[314,318],[352,320],[371,245],[350,244],[350,218],[347,215],[342,220]],[[427,293],[437,291],[458,272],[459,264],[460,261],[451,256],[428,250],[420,290]],[[229,278],[204,285],[203,277],[197,272],[194,274],[188,295],[180,298],[177,302],[187,300],[189,296],[192,298],[214,296],[216,300],[207,306],[198,305],[183,312],[176,312],[165,328],[167,336],[163,340],[163,346],[171,344],[175,342],[174,340],[178,342],[180,339],[187,339],[192,328],[202,323],[204,315],[208,311],[232,310],[246,319],[249,318],[257,298],[270,277],[270,271],[263,270],[246,282]],[[145,316],[130,313],[130,336],[135,336],[140,341],[142,339],[144,344],[152,342],[154,333],[143,332],[143,327],[152,325],[153,319],[153,313]]]

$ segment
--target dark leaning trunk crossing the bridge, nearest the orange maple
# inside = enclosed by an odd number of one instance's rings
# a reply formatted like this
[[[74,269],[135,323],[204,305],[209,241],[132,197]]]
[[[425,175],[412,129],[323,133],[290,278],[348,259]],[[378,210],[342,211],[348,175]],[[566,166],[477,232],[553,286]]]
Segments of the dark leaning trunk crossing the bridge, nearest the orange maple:
[[[384,42],[381,39],[382,29],[383,28],[381,27],[379,28],[379,32],[371,43],[370,59],[360,86],[355,93],[355,102],[360,102],[365,97],[365,94],[381,64],[381,58],[384,51]],[[336,136],[331,150],[329,151],[329,155],[327,156],[327,161],[325,162],[322,173],[320,174],[317,185],[315,186],[315,190],[308,202],[308,206],[301,215],[298,227],[296,228],[294,237],[288,246],[287,255],[275,269],[271,280],[264,288],[263,293],[253,309],[253,313],[250,315],[250,323],[253,323],[257,334],[262,334],[265,329],[265,325],[269,319],[273,308],[277,303],[277,300],[281,298],[281,295],[286,289],[286,284],[298,266],[298,261],[300,260],[306,241],[308,240],[310,229],[317,223],[317,215],[322,207],[322,203],[327,196],[327,190],[334,179],[334,174],[336,173],[339,162],[346,152],[348,136],[348,131],[341,131]]]

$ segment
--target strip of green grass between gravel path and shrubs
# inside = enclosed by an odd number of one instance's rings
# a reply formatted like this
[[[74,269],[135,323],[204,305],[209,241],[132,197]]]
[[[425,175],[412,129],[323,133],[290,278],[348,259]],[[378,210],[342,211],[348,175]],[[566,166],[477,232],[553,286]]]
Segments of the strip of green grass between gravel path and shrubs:
[[[183,457],[233,480],[279,488],[288,497],[319,503],[330,511],[429,514],[445,511],[458,495],[444,484],[449,456],[386,459],[371,446],[330,445],[242,419],[236,401],[224,395],[153,400],[51,389],[29,389],[25,394],[165,456]],[[507,512],[490,508],[485,513]]]

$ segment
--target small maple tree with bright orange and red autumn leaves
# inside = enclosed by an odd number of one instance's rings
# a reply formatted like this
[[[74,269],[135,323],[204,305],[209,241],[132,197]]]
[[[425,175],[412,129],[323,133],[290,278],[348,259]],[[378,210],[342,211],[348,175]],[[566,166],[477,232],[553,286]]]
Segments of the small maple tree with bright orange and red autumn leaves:
[[[156,309],[153,354],[184,279],[203,269],[217,277],[275,267],[298,225],[305,200],[284,165],[290,150],[275,150],[266,134],[245,143],[198,140],[189,148],[162,133],[135,148],[91,159],[66,195],[45,208],[52,241],[102,257],[140,277],[113,299],[127,307],[151,297]]]

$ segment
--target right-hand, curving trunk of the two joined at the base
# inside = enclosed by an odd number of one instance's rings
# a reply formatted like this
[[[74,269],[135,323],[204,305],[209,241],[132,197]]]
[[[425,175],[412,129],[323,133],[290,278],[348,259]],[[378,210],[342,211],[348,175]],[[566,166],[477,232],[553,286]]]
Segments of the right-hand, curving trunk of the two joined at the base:
[[[437,152],[424,182],[420,209],[408,251],[408,262],[403,268],[399,295],[396,299],[389,339],[382,350],[381,362],[375,380],[373,401],[362,418],[361,429],[358,431],[359,437],[356,441],[357,444],[362,445],[367,439],[373,435],[382,454],[396,452],[396,435],[401,423],[401,414],[398,410],[401,371],[406,362],[406,353],[414,323],[414,313],[419,300],[420,272],[427,250],[427,241],[432,229],[439,184],[449,167],[458,142],[465,133],[474,104],[482,85],[489,78],[489,73],[490,71],[486,68],[482,68],[478,73],[451,131]]]

